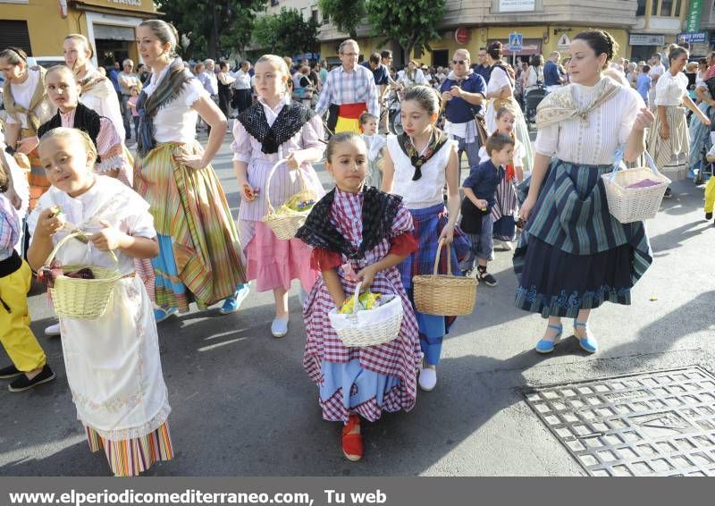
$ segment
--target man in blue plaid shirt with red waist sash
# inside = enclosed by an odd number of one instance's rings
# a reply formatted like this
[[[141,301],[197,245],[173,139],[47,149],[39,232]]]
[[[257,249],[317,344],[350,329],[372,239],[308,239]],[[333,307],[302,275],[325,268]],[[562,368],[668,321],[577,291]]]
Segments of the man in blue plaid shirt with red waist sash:
[[[335,133],[360,133],[361,114],[380,114],[373,72],[357,64],[360,48],[355,40],[343,40],[338,53],[342,65],[328,73],[315,112],[323,115],[330,108],[328,126]]]

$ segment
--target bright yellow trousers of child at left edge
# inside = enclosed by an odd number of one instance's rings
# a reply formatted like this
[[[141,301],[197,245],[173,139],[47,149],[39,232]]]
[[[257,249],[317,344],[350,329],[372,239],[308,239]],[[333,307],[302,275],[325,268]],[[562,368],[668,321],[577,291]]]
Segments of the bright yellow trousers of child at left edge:
[[[27,262],[13,274],[0,278],[0,342],[19,371],[45,366],[45,351],[29,329],[28,291],[32,272]],[[5,305],[10,308],[8,311]]]

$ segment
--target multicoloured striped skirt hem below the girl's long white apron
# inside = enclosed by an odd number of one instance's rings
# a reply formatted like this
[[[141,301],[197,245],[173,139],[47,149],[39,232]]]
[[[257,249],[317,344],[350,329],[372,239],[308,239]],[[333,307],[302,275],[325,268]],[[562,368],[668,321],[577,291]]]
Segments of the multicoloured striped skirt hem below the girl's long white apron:
[[[159,460],[172,460],[172,436],[168,422],[155,431],[134,439],[111,441],[85,426],[89,449],[94,453],[104,450],[114,476],[139,476]]]

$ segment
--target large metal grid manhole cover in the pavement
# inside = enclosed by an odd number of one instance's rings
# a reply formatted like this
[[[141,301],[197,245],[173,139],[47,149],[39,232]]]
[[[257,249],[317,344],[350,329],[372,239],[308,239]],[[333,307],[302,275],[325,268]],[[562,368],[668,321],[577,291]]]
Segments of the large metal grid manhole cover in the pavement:
[[[522,392],[592,476],[715,476],[715,375],[701,367]]]

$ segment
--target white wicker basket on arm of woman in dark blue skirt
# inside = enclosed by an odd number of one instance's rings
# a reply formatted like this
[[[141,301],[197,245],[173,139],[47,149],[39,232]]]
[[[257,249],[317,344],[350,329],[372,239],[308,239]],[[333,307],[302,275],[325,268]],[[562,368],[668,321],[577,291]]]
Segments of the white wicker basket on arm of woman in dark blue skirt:
[[[610,214],[620,223],[641,222],[655,217],[660,209],[666,188],[670,180],[658,172],[651,156],[645,153],[645,160],[651,166],[621,170],[619,164],[615,171],[601,175],[606,187],[606,198]],[[628,186],[650,179],[658,184],[646,188],[627,188]]]

